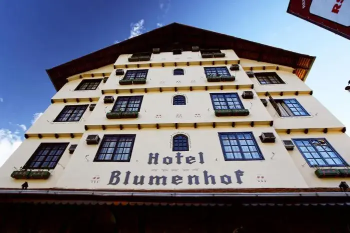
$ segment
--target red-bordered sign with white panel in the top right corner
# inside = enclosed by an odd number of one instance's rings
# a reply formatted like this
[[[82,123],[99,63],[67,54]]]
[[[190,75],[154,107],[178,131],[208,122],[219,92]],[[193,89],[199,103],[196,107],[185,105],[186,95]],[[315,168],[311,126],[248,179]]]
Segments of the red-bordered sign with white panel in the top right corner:
[[[350,0],[289,0],[287,12],[350,39]]]

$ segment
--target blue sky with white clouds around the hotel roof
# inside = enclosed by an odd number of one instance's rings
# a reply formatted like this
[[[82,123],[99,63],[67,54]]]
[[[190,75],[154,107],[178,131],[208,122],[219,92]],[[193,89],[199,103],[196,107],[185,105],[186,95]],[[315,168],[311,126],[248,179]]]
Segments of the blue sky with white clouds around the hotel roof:
[[[50,104],[45,69],[179,22],[317,56],[306,84],[350,125],[350,41],[286,13],[288,0],[0,1],[0,165]],[[339,101],[340,100],[340,101]]]

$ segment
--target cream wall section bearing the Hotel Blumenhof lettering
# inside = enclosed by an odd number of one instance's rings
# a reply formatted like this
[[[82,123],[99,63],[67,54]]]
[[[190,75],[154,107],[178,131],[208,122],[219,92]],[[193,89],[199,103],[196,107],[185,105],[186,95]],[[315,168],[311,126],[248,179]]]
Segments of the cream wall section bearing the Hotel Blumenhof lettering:
[[[220,141],[217,132],[250,132],[254,137],[264,156],[261,161],[224,161]],[[73,189],[203,189],[203,188],[306,188],[306,184],[298,173],[291,157],[285,150],[282,142],[261,143],[258,136],[261,132],[273,132],[271,127],[254,128],[198,128],[198,129],[159,129],[159,130],[106,130],[88,131],[80,142],[65,173],[59,179],[56,188]],[[176,164],[175,155],[172,151],[171,136],[176,133],[184,133],[189,136],[189,151],[180,152],[184,157],[182,163]],[[86,145],[84,139],[88,134],[136,134],[130,162],[93,162],[98,150],[97,145]],[[203,137],[205,135],[205,137]],[[203,153],[204,163],[198,161],[198,153]],[[149,153],[159,153],[158,164],[147,164]],[[273,156],[274,153],[274,156]],[[88,155],[88,156],[86,156]],[[173,158],[173,163],[162,164],[166,156]],[[195,163],[185,163],[186,156],[195,157]],[[77,168],[79,172],[77,171]],[[236,183],[235,171],[243,171],[242,184]],[[108,185],[112,171],[120,171],[120,182],[117,185]],[[124,185],[125,172],[130,171],[129,184]],[[203,171],[215,176],[215,185],[205,185]],[[291,174],[293,177],[291,179]],[[134,176],[145,176],[144,184],[136,186],[132,184]],[[167,185],[148,185],[149,176],[166,176]],[[183,183],[171,184],[172,176],[182,176]],[[188,185],[187,176],[199,176],[199,185]],[[220,176],[231,176],[232,184],[221,184]],[[99,177],[99,182],[91,182],[93,177]],[[260,177],[259,179],[257,177]],[[264,177],[261,179],[261,177]],[[261,182],[262,180],[262,182]]]

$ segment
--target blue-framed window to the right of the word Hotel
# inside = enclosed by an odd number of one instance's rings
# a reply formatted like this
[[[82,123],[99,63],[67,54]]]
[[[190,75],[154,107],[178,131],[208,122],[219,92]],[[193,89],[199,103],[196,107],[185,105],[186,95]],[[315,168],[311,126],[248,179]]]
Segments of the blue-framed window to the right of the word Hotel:
[[[218,133],[225,161],[263,160],[263,156],[251,132]]]

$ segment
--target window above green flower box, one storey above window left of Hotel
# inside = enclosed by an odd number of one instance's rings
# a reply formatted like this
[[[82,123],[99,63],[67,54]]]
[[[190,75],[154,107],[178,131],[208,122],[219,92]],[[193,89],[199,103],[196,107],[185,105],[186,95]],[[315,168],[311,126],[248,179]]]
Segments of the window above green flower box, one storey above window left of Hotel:
[[[142,103],[142,95],[119,96],[112,108],[112,112],[139,112]]]

